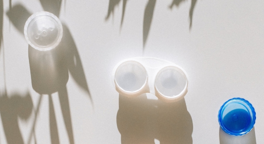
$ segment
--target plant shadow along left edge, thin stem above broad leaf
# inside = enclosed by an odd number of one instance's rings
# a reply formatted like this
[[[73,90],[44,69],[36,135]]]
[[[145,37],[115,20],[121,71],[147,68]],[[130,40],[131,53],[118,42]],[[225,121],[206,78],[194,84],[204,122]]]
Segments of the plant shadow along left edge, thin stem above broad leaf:
[[[3,78],[5,87],[4,92],[0,92],[1,121],[6,142],[9,144],[23,144],[24,141],[18,122],[19,120],[27,122],[33,111],[33,101],[29,92],[25,95],[19,92],[7,94],[3,45],[3,14],[3,0],[0,0],[0,52],[3,53]]]

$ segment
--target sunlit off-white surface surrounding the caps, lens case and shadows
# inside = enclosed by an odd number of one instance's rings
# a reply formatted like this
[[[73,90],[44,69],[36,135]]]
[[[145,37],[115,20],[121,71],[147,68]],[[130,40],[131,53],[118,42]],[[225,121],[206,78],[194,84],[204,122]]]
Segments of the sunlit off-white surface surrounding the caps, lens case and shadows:
[[[157,0],[144,48],[143,22],[148,1],[127,1],[122,27],[122,1],[117,3],[107,20],[108,0],[63,0],[61,3],[59,19],[73,37],[90,91],[89,95],[69,73],[67,92],[74,143],[121,143],[116,122],[119,94],[112,85],[111,73],[119,61],[139,56],[174,62],[188,74],[188,93],[184,98],[191,115],[194,144],[219,143],[218,110],[233,97],[242,97],[252,103],[257,120],[255,134],[250,139],[256,139],[257,143],[264,141],[264,1],[197,0],[189,29],[191,0],[182,1],[172,9],[169,8],[172,0]],[[31,13],[43,10],[38,0],[12,0],[12,7],[18,4]],[[5,89],[10,99],[14,94],[25,96],[29,92],[33,108],[28,118],[10,114],[17,119],[20,131],[16,132],[20,132],[23,143],[27,143],[37,118],[36,142],[49,144],[52,143],[49,97],[43,95],[35,116],[40,94],[31,84],[28,43],[7,16],[8,11],[9,1],[4,0],[1,96],[5,95]],[[52,101],[59,141],[67,144],[71,138],[67,134],[58,92],[52,94]],[[12,104],[4,105],[3,109],[14,107]],[[12,111],[0,113],[3,117],[3,113],[8,115]],[[3,118],[0,119],[0,143],[5,144],[7,137],[16,139],[16,134],[6,133],[4,127],[8,129],[15,124],[2,121]]]

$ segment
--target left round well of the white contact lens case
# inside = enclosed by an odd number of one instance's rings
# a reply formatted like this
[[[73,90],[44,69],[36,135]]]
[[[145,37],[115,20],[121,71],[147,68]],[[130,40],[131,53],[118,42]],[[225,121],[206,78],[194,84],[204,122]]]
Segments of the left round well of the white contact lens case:
[[[146,69],[139,62],[124,62],[116,70],[115,82],[118,88],[125,93],[141,90],[146,85],[146,81]]]

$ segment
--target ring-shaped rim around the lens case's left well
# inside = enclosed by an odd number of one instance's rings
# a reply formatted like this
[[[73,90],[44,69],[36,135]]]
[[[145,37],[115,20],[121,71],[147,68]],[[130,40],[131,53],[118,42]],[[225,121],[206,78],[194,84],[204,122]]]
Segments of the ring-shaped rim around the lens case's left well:
[[[122,65],[123,63],[125,63],[125,62],[129,62],[129,61],[133,61],[133,62],[138,63],[139,65],[141,65],[141,66],[144,68],[144,70],[145,70],[145,72],[146,72],[146,80],[145,80],[145,83],[142,85],[141,88],[139,88],[138,90],[135,90],[135,91],[127,91],[127,90],[124,90],[124,89],[121,88],[121,87],[118,85],[118,83],[116,82],[116,71],[117,71],[118,67],[120,67],[120,65]],[[138,62],[138,61],[136,61],[136,60],[127,60],[127,61],[124,61],[124,62],[120,63],[120,64],[116,67],[116,70],[115,70],[115,73],[114,73],[114,83],[115,83],[115,85],[116,85],[116,88],[118,88],[118,89],[119,89],[120,91],[122,91],[123,93],[125,93],[125,94],[136,94],[137,92],[140,92],[141,90],[143,90],[143,89],[145,88],[146,84],[148,83],[148,72],[147,72],[146,68],[144,67],[144,65],[142,65],[140,62]]]

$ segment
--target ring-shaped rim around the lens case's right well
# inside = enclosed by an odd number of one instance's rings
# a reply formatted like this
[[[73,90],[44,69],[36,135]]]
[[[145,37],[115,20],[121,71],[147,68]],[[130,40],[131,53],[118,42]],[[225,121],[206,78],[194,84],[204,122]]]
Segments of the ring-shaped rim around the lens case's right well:
[[[165,68],[167,68],[167,67],[175,67],[176,69],[178,69],[178,70],[180,70],[180,72],[183,74],[183,76],[184,76],[184,79],[185,79],[185,86],[184,86],[184,89],[182,90],[182,92],[180,92],[180,94],[178,94],[178,95],[176,95],[176,96],[165,96],[164,94],[162,94],[159,90],[158,90],[158,88],[157,88],[157,86],[156,86],[156,78],[157,78],[157,75],[161,72],[161,70],[163,70],[163,69],[165,69]],[[154,80],[154,87],[155,87],[155,90],[156,90],[156,92],[158,92],[158,94],[161,96],[161,97],[159,97],[159,98],[162,98],[162,99],[166,99],[166,100],[169,100],[169,101],[172,101],[172,100],[180,100],[182,97],[184,97],[185,96],[185,94],[186,94],[186,92],[187,92],[187,88],[188,88],[188,78],[187,78],[187,75],[186,75],[186,73],[185,73],[185,71],[181,68],[181,67],[178,67],[178,66],[175,66],[175,65],[168,65],[168,66],[165,66],[165,67],[162,67],[159,71],[158,71],[158,73],[156,74],[156,76],[155,76],[155,80]]]

